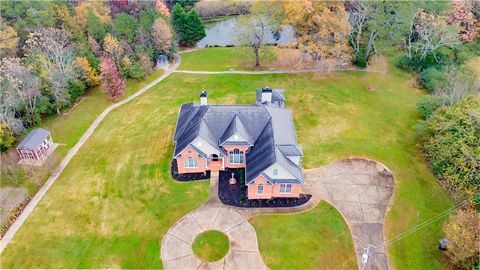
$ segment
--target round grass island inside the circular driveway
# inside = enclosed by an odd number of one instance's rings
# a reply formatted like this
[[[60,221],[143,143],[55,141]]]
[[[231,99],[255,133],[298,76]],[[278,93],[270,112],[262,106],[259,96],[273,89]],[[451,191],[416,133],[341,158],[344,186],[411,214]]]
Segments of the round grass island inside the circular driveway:
[[[195,237],[192,249],[199,258],[216,262],[227,255],[230,242],[228,236],[220,231],[206,231]]]

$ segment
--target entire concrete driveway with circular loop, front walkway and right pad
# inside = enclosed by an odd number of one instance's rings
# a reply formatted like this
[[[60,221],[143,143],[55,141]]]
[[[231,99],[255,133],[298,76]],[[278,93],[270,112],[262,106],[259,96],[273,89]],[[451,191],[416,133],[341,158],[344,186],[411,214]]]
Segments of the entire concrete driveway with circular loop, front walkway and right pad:
[[[343,215],[354,240],[357,259],[368,244],[384,243],[383,221],[393,193],[392,173],[367,159],[346,159],[317,169],[305,170],[304,193],[312,194],[304,205],[290,208],[235,208],[218,199],[218,173],[212,173],[210,198],[179,220],[163,237],[161,259],[166,269],[266,269],[254,228],[248,219],[261,214],[289,214],[312,209],[326,200]],[[206,230],[219,230],[230,238],[231,251],[215,263],[202,262],[192,250],[195,237]],[[341,267],[341,266],[339,266]],[[367,269],[388,269],[384,248],[370,248]]]

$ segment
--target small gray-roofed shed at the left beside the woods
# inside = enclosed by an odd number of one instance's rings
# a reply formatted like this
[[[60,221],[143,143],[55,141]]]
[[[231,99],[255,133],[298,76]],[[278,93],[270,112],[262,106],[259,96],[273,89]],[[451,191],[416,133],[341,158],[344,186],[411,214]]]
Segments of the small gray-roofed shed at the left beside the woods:
[[[58,144],[54,143],[50,131],[38,128],[32,130],[17,146],[19,165],[42,165]]]

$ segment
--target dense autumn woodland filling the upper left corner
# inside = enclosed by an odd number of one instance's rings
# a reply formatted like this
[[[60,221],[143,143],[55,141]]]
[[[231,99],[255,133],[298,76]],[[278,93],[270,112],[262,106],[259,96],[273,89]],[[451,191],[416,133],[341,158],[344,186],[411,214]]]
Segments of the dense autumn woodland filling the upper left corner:
[[[0,150],[89,87],[119,99],[127,79],[172,56],[176,39],[194,45],[205,36],[195,2],[2,1]]]

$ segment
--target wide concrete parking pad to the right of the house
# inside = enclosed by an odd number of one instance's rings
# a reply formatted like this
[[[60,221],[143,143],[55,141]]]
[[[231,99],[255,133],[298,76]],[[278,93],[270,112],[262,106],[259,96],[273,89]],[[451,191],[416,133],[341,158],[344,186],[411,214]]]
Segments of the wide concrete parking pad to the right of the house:
[[[393,193],[394,178],[382,164],[347,159],[318,169],[305,170],[305,181],[316,195],[335,206],[345,218],[357,254],[384,243],[384,216]],[[384,247],[371,247],[366,269],[388,269]],[[361,258],[357,256],[361,268]]]

